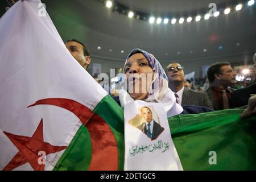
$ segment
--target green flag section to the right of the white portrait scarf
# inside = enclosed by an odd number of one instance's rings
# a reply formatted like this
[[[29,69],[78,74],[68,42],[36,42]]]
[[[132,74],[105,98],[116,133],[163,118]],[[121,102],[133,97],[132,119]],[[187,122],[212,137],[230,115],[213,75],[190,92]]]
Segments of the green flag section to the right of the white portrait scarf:
[[[168,118],[184,170],[256,170],[256,117],[241,109]],[[216,152],[216,163],[214,154]]]

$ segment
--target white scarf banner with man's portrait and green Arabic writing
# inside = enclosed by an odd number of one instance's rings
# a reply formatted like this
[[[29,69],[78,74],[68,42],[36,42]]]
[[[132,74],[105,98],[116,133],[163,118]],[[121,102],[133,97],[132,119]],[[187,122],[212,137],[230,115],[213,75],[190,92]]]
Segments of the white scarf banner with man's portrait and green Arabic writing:
[[[183,170],[162,104],[125,107],[125,170]]]

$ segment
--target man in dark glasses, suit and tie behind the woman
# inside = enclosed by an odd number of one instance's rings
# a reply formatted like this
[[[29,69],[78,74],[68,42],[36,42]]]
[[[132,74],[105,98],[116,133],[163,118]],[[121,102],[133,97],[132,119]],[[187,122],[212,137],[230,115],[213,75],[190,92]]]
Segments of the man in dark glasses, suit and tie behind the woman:
[[[209,96],[204,92],[197,92],[184,88],[185,74],[179,63],[171,63],[166,68],[168,86],[174,92],[177,104],[181,106],[205,106],[213,109]]]

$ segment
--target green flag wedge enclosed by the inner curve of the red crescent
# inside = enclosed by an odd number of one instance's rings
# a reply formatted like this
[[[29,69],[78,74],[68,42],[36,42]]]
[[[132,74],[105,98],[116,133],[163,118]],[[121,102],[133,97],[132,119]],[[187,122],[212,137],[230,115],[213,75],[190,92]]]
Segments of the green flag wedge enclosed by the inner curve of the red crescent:
[[[54,171],[83,171],[88,170],[92,157],[92,143],[90,134],[84,125],[81,125],[64,154],[61,155]]]

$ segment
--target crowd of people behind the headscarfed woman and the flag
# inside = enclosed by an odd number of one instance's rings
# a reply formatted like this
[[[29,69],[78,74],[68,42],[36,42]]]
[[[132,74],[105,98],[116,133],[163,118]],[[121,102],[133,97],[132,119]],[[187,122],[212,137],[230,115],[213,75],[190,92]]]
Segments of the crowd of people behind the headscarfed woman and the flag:
[[[6,10],[8,9],[9,7],[6,7]],[[67,40],[65,46],[77,62],[87,70],[91,63],[88,47],[76,39]],[[146,59],[145,56],[144,58]],[[256,53],[254,54],[253,61],[256,75]],[[237,83],[236,73],[228,62],[218,62],[210,65],[207,71],[207,78],[196,77],[195,80],[185,80],[184,68],[177,62],[169,64],[165,72],[168,77],[168,87],[174,92],[177,104],[183,107],[204,106],[210,110],[239,107],[245,109],[247,104],[255,103],[256,78],[253,84],[244,88],[241,84]],[[93,75],[94,80],[101,84],[106,92],[113,97],[118,97],[118,89],[120,88],[115,87],[111,89],[112,86],[109,86],[109,82],[104,81],[104,78],[99,80],[98,76],[98,74]],[[251,104],[252,107],[254,106],[253,104]],[[247,109],[252,107],[248,106]],[[255,114],[255,111],[251,110],[250,113]]]

